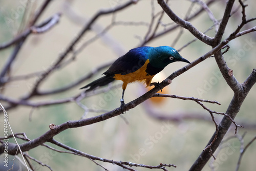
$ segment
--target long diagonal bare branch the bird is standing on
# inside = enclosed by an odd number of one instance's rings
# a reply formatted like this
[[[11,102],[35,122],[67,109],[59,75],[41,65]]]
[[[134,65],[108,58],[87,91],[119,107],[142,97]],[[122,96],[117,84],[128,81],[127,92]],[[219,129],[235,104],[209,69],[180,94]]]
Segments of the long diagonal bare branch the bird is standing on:
[[[44,135],[42,135],[42,136],[40,136],[40,137],[30,141],[30,142],[20,144],[20,148],[23,151],[29,151],[30,149],[32,149],[32,148],[34,148],[34,147],[36,147],[40,144],[45,143],[46,141],[48,141],[49,139],[53,138],[55,135],[59,134],[60,132],[66,130],[66,129],[69,129],[69,128],[72,128],[72,127],[80,127],[80,126],[85,126],[85,125],[88,125],[88,124],[97,123],[97,122],[100,122],[100,121],[118,116],[118,115],[120,115],[121,113],[123,113],[125,111],[128,111],[128,110],[131,110],[131,109],[135,108],[137,105],[144,102],[148,98],[153,97],[154,94],[157,93],[161,88],[164,88],[168,84],[170,84],[171,81],[169,81],[169,80],[173,80],[174,78],[176,78],[177,76],[186,72],[190,68],[196,66],[198,63],[207,59],[209,56],[214,54],[216,51],[219,51],[225,45],[225,43],[226,43],[226,41],[223,41],[219,46],[215,47],[214,49],[210,50],[209,52],[207,52],[203,56],[201,56],[198,59],[196,59],[195,61],[191,62],[190,65],[187,65],[187,66],[181,68],[180,70],[174,72],[167,79],[165,79],[164,81],[162,81],[160,83],[160,87],[155,87],[152,90],[145,93],[144,95],[140,96],[139,98],[125,104],[122,109],[117,108],[113,111],[104,113],[104,114],[99,115],[99,116],[91,117],[91,118],[88,118],[88,119],[68,121],[68,122],[62,123],[62,124],[56,126],[56,129],[50,130],[50,131],[46,132]],[[2,152],[1,146],[0,146],[0,152]],[[13,154],[14,152],[16,152],[16,147],[10,148],[9,151],[8,151],[8,153],[10,153],[10,154]]]

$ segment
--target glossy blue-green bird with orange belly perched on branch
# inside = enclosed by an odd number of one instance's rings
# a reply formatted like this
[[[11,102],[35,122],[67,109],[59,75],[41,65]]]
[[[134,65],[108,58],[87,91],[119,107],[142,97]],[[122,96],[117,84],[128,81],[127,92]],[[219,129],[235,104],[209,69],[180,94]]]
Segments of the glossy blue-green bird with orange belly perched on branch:
[[[103,77],[80,89],[89,88],[86,90],[88,92],[97,87],[106,86],[114,80],[121,80],[123,81],[123,91],[120,99],[120,107],[123,108],[125,104],[123,96],[127,84],[138,81],[145,83],[146,87],[151,86],[152,78],[169,65],[169,63],[176,61],[190,63],[187,59],[181,57],[176,49],[169,46],[143,46],[134,48],[125,55],[117,58],[110,68],[102,74],[104,75]]]

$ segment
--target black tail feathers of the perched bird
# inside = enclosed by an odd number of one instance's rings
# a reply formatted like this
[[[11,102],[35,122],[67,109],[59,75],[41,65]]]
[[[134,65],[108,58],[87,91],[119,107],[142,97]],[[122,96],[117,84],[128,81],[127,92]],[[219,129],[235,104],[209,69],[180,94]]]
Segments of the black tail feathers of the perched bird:
[[[113,77],[114,77],[114,75],[105,75],[104,77],[101,77],[80,89],[85,89],[85,88],[90,87],[90,89],[86,90],[86,92],[87,92],[87,91],[96,89],[97,87],[105,86],[106,84],[109,84],[110,82],[115,80],[115,78],[113,78]]]

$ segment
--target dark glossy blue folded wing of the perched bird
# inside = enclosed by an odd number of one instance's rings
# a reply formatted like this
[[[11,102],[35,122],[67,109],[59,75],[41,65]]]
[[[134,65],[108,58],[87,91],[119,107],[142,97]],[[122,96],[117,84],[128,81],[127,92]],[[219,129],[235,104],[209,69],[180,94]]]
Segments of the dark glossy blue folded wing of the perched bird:
[[[140,69],[148,59],[147,51],[144,49],[132,49],[125,55],[119,57],[111,67],[103,74],[129,74]]]

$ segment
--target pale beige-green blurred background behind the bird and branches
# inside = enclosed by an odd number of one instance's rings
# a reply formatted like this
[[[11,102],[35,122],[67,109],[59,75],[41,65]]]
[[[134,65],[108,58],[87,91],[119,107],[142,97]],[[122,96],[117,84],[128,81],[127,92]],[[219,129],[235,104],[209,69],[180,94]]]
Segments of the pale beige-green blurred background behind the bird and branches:
[[[25,2],[0,1],[1,44],[10,41],[27,29],[31,15],[42,3],[28,1],[28,8],[25,9],[27,3]],[[6,75],[16,77],[32,74],[33,76],[6,83],[0,88],[0,93],[12,99],[19,99],[29,94],[35,81],[40,78],[40,73],[53,65],[58,56],[77,37],[83,26],[99,10],[114,9],[124,3],[125,1],[119,0],[51,2],[40,16],[37,24],[57,12],[62,14],[59,23],[45,33],[30,35],[19,51],[15,62],[12,63],[10,73]],[[191,1],[169,1],[168,4],[182,18],[187,16],[189,8],[191,8],[189,16],[201,8],[197,3],[191,6]],[[248,7],[246,7],[247,19],[255,17],[255,2],[246,1],[245,4],[248,4]],[[209,5],[209,9],[215,18],[219,20],[223,16],[225,6],[226,1],[214,1]],[[237,9],[237,12],[230,17],[223,39],[236,30],[241,23],[242,8],[239,7],[239,3],[236,2],[233,10]],[[142,45],[153,47],[172,46],[179,50],[195,38],[187,30],[178,27],[162,36],[153,38],[151,41],[144,42],[145,35],[151,27],[152,16],[159,12],[161,12],[161,8],[157,1],[139,1],[114,14],[101,16],[91,27],[91,30],[82,36],[73,53],[66,58],[65,61],[68,62],[68,65],[52,72],[40,85],[39,90],[47,92],[65,87],[96,68],[114,61],[132,48]],[[159,18],[160,15],[161,13],[155,17]],[[152,29],[155,28],[157,21],[158,19],[155,19]],[[189,22],[201,32],[205,32],[214,25],[205,11]],[[156,34],[164,32],[175,25],[166,14],[163,14]],[[254,26],[255,22],[251,22],[245,26],[245,29]],[[152,30],[150,33],[152,33]],[[213,37],[215,35],[215,27],[212,27],[206,34]],[[255,68],[255,45],[256,35],[252,32],[232,40],[229,43],[230,49],[224,54],[227,65],[233,70],[234,76],[241,83]],[[197,40],[180,50],[179,53],[191,62],[204,55],[210,49],[211,47]],[[12,51],[13,46],[0,51],[0,69],[5,66]],[[186,63],[184,62],[170,64],[156,78],[156,81],[162,81],[185,65]],[[100,70],[90,79],[77,84],[67,91],[46,96],[35,96],[29,100],[42,102],[73,97],[81,93],[79,88],[99,78],[107,69],[108,67]],[[14,133],[25,132],[29,139],[35,139],[49,130],[50,123],[58,125],[69,120],[89,118],[102,114],[104,111],[114,110],[120,106],[122,89],[118,85],[121,83],[121,81],[116,81],[114,85],[117,85],[117,87],[110,91],[82,99],[80,101],[81,104],[79,103],[80,105],[76,102],[68,102],[40,106],[39,108],[23,105],[11,108],[7,110],[7,113],[12,130]],[[140,83],[129,84],[125,91],[125,102],[136,99],[147,90]],[[233,97],[233,92],[221,76],[214,58],[208,58],[175,78],[169,86],[164,88],[164,93],[216,100],[221,105],[204,104],[207,108],[218,112],[225,112]],[[243,138],[243,145],[246,145],[256,135],[255,97],[256,87],[254,86],[235,119],[236,123],[244,125],[244,128],[239,128],[238,134],[235,135],[235,127],[232,124],[224,138],[226,141],[221,144],[215,153],[217,160],[214,161],[211,158],[203,170],[235,170],[240,155],[241,136],[246,133]],[[4,100],[0,101],[4,106],[9,105]],[[91,110],[84,111],[81,106]],[[217,123],[222,117],[215,115]],[[3,118],[1,113],[1,125]],[[158,165],[159,163],[175,164],[177,168],[170,167],[167,169],[188,170],[205,148],[214,132],[215,124],[211,121],[210,114],[195,101],[173,98],[163,98],[159,101],[155,98],[155,100],[150,99],[143,102],[135,109],[127,111],[124,115],[96,124],[63,131],[55,136],[54,139],[79,151],[101,158],[147,165]],[[14,140],[10,138],[10,142],[14,142]],[[18,142],[23,143],[25,141],[18,140]],[[61,149],[51,143],[46,144]],[[53,170],[104,170],[87,158],[57,153],[44,146],[31,149],[28,154],[42,163],[48,164]],[[242,159],[240,170],[255,170],[255,157],[256,143],[254,142],[247,149]],[[34,161],[31,162],[34,164],[35,170],[49,170],[46,166],[41,166]],[[12,163],[13,161],[9,160],[10,166]],[[18,163],[16,159],[14,161],[16,169],[19,166]],[[109,170],[123,170],[119,166],[110,163],[98,163]],[[148,170],[140,167],[133,167],[133,169]]]

